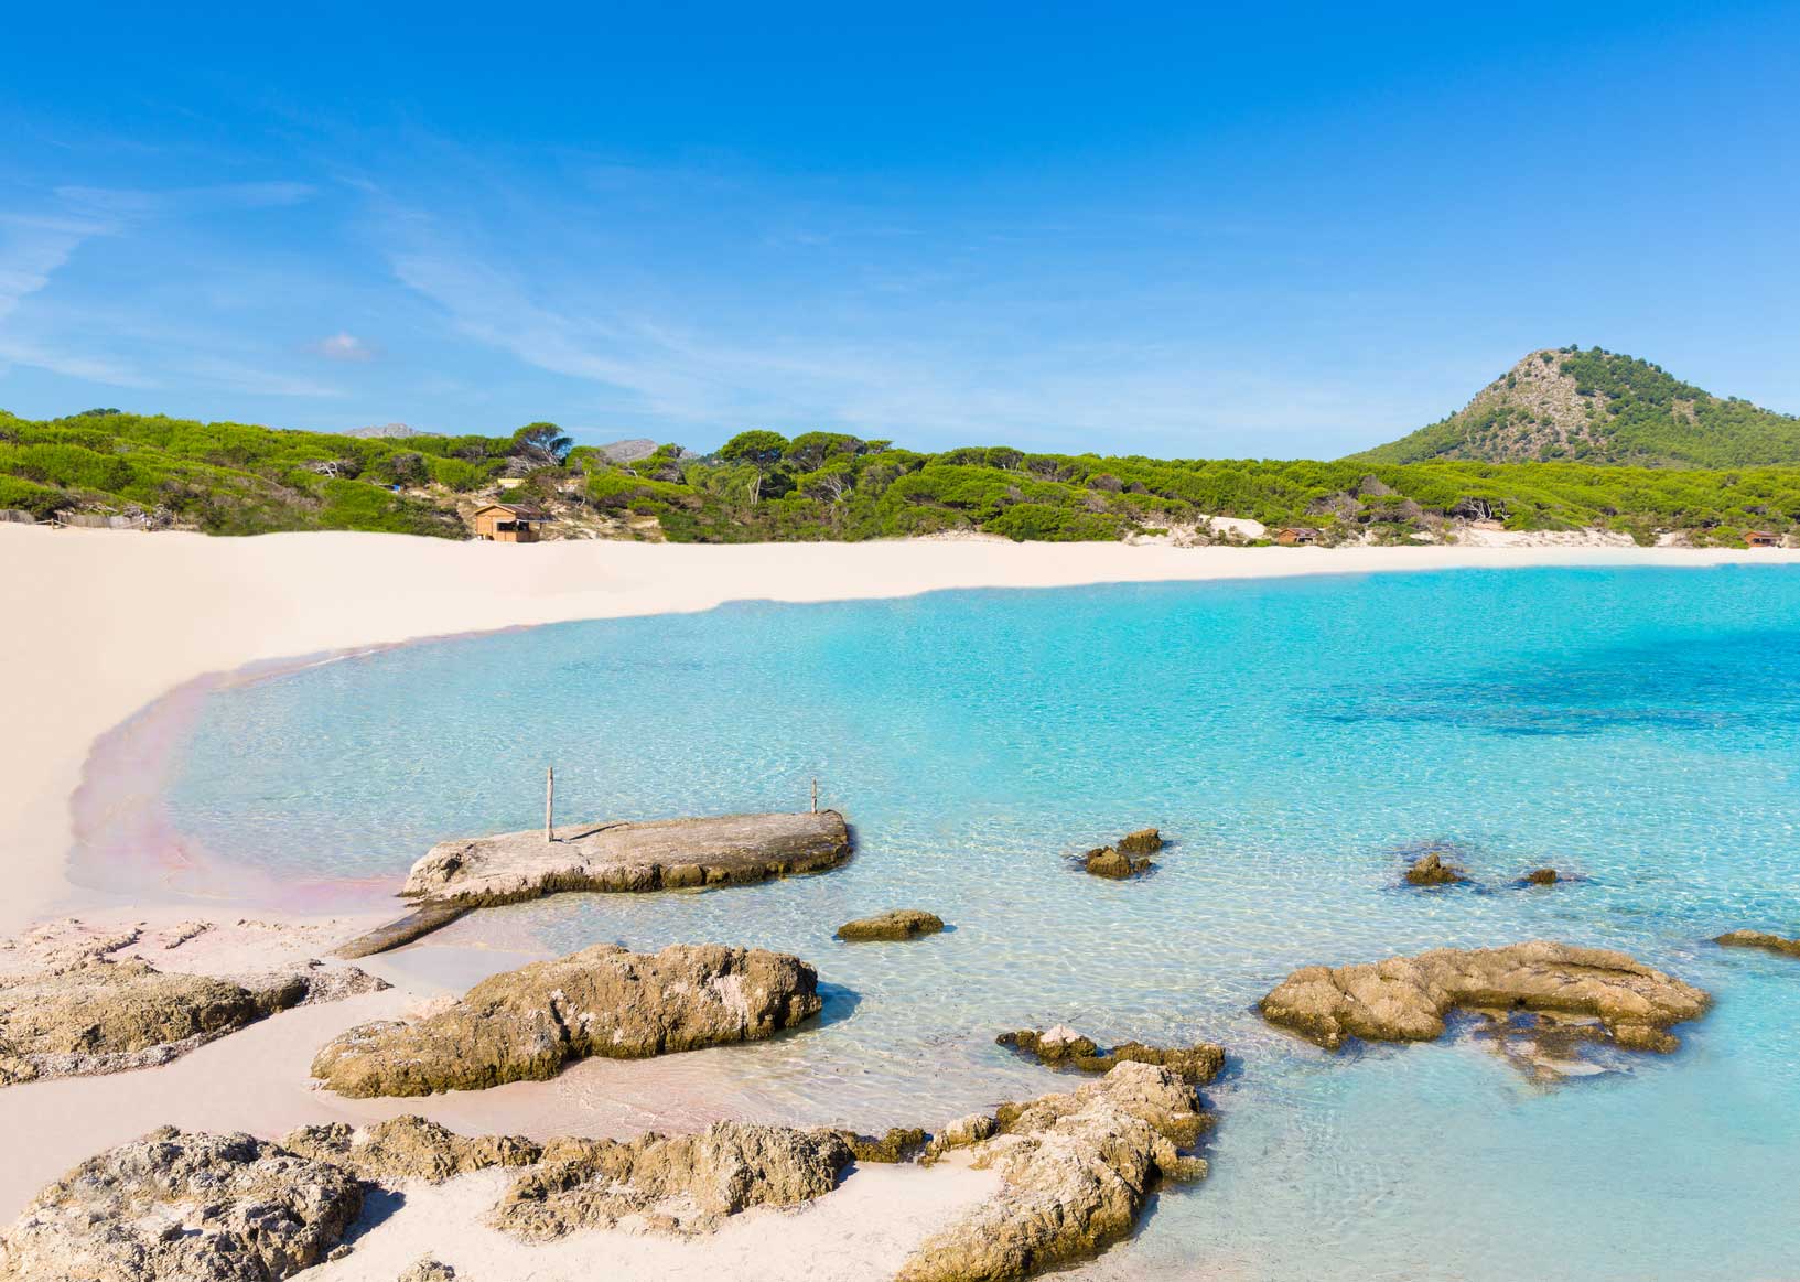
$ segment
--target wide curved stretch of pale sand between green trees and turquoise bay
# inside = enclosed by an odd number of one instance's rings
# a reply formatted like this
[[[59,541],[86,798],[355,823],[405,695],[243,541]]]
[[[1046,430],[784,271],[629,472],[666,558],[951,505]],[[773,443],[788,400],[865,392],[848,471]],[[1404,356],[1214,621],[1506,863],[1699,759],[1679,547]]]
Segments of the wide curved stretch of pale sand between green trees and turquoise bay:
[[[130,796],[130,787],[110,789],[106,781],[155,781],[166,774],[158,749],[178,733],[166,718],[182,711],[182,700],[191,715],[221,684],[398,645],[752,600],[817,603],[967,589],[1730,564],[1795,565],[1800,551],[1607,544],[1177,549],[932,538],[513,547],[405,535],[209,538],[0,526],[0,585],[13,600],[27,601],[32,618],[29,628],[0,637],[5,668],[31,673],[16,691],[13,733],[0,738],[0,769],[20,783],[13,799],[0,803],[0,852],[13,889],[0,902],[0,934],[52,913],[121,906],[119,893],[70,877],[76,846],[94,823],[94,812],[83,808],[104,808],[121,792]],[[158,625],[160,636],[144,641],[113,632],[121,614],[176,623]],[[160,830],[140,835],[178,844]],[[194,866],[248,873],[203,857]],[[236,893],[220,902],[257,904]]]

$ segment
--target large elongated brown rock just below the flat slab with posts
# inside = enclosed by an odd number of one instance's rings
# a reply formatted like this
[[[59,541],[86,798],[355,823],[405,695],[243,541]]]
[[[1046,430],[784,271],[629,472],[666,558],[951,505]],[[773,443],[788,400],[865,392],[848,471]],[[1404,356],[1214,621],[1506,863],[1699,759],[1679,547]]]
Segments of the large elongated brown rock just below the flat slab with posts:
[[[589,1055],[756,1041],[819,1014],[817,981],[785,952],[596,943],[490,976],[448,1010],[351,1028],[319,1052],[313,1077],[353,1097],[475,1091],[544,1080]]]

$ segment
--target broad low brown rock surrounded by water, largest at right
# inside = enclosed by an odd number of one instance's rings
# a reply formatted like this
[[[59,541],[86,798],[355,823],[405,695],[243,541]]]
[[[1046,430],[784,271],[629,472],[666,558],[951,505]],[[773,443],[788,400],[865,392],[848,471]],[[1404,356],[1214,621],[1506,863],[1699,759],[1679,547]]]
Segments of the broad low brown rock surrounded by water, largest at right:
[[[1262,999],[1262,1017],[1337,1050],[1346,1037],[1431,1041],[1444,1017],[1539,1010],[1598,1019],[1627,1050],[1674,1050],[1670,1025],[1697,1019],[1708,996],[1624,952],[1535,940],[1498,949],[1435,949],[1373,965],[1294,971]]]

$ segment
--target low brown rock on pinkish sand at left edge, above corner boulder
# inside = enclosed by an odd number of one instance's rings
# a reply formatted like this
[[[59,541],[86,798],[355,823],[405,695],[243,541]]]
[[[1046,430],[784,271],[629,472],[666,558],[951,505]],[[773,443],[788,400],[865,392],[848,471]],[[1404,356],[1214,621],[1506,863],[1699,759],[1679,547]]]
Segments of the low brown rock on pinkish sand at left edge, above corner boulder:
[[[387,985],[319,963],[243,981],[88,960],[0,983],[0,1086],[166,1064],[277,1010]]]

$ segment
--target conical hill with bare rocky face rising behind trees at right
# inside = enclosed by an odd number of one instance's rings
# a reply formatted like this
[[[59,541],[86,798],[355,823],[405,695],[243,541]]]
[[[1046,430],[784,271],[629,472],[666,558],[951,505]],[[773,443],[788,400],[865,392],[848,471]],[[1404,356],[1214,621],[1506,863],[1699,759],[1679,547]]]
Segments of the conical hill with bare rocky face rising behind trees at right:
[[[1613,463],[1737,468],[1800,463],[1800,418],[1719,398],[1602,348],[1544,348],[1463,409],[1357,463]]]

